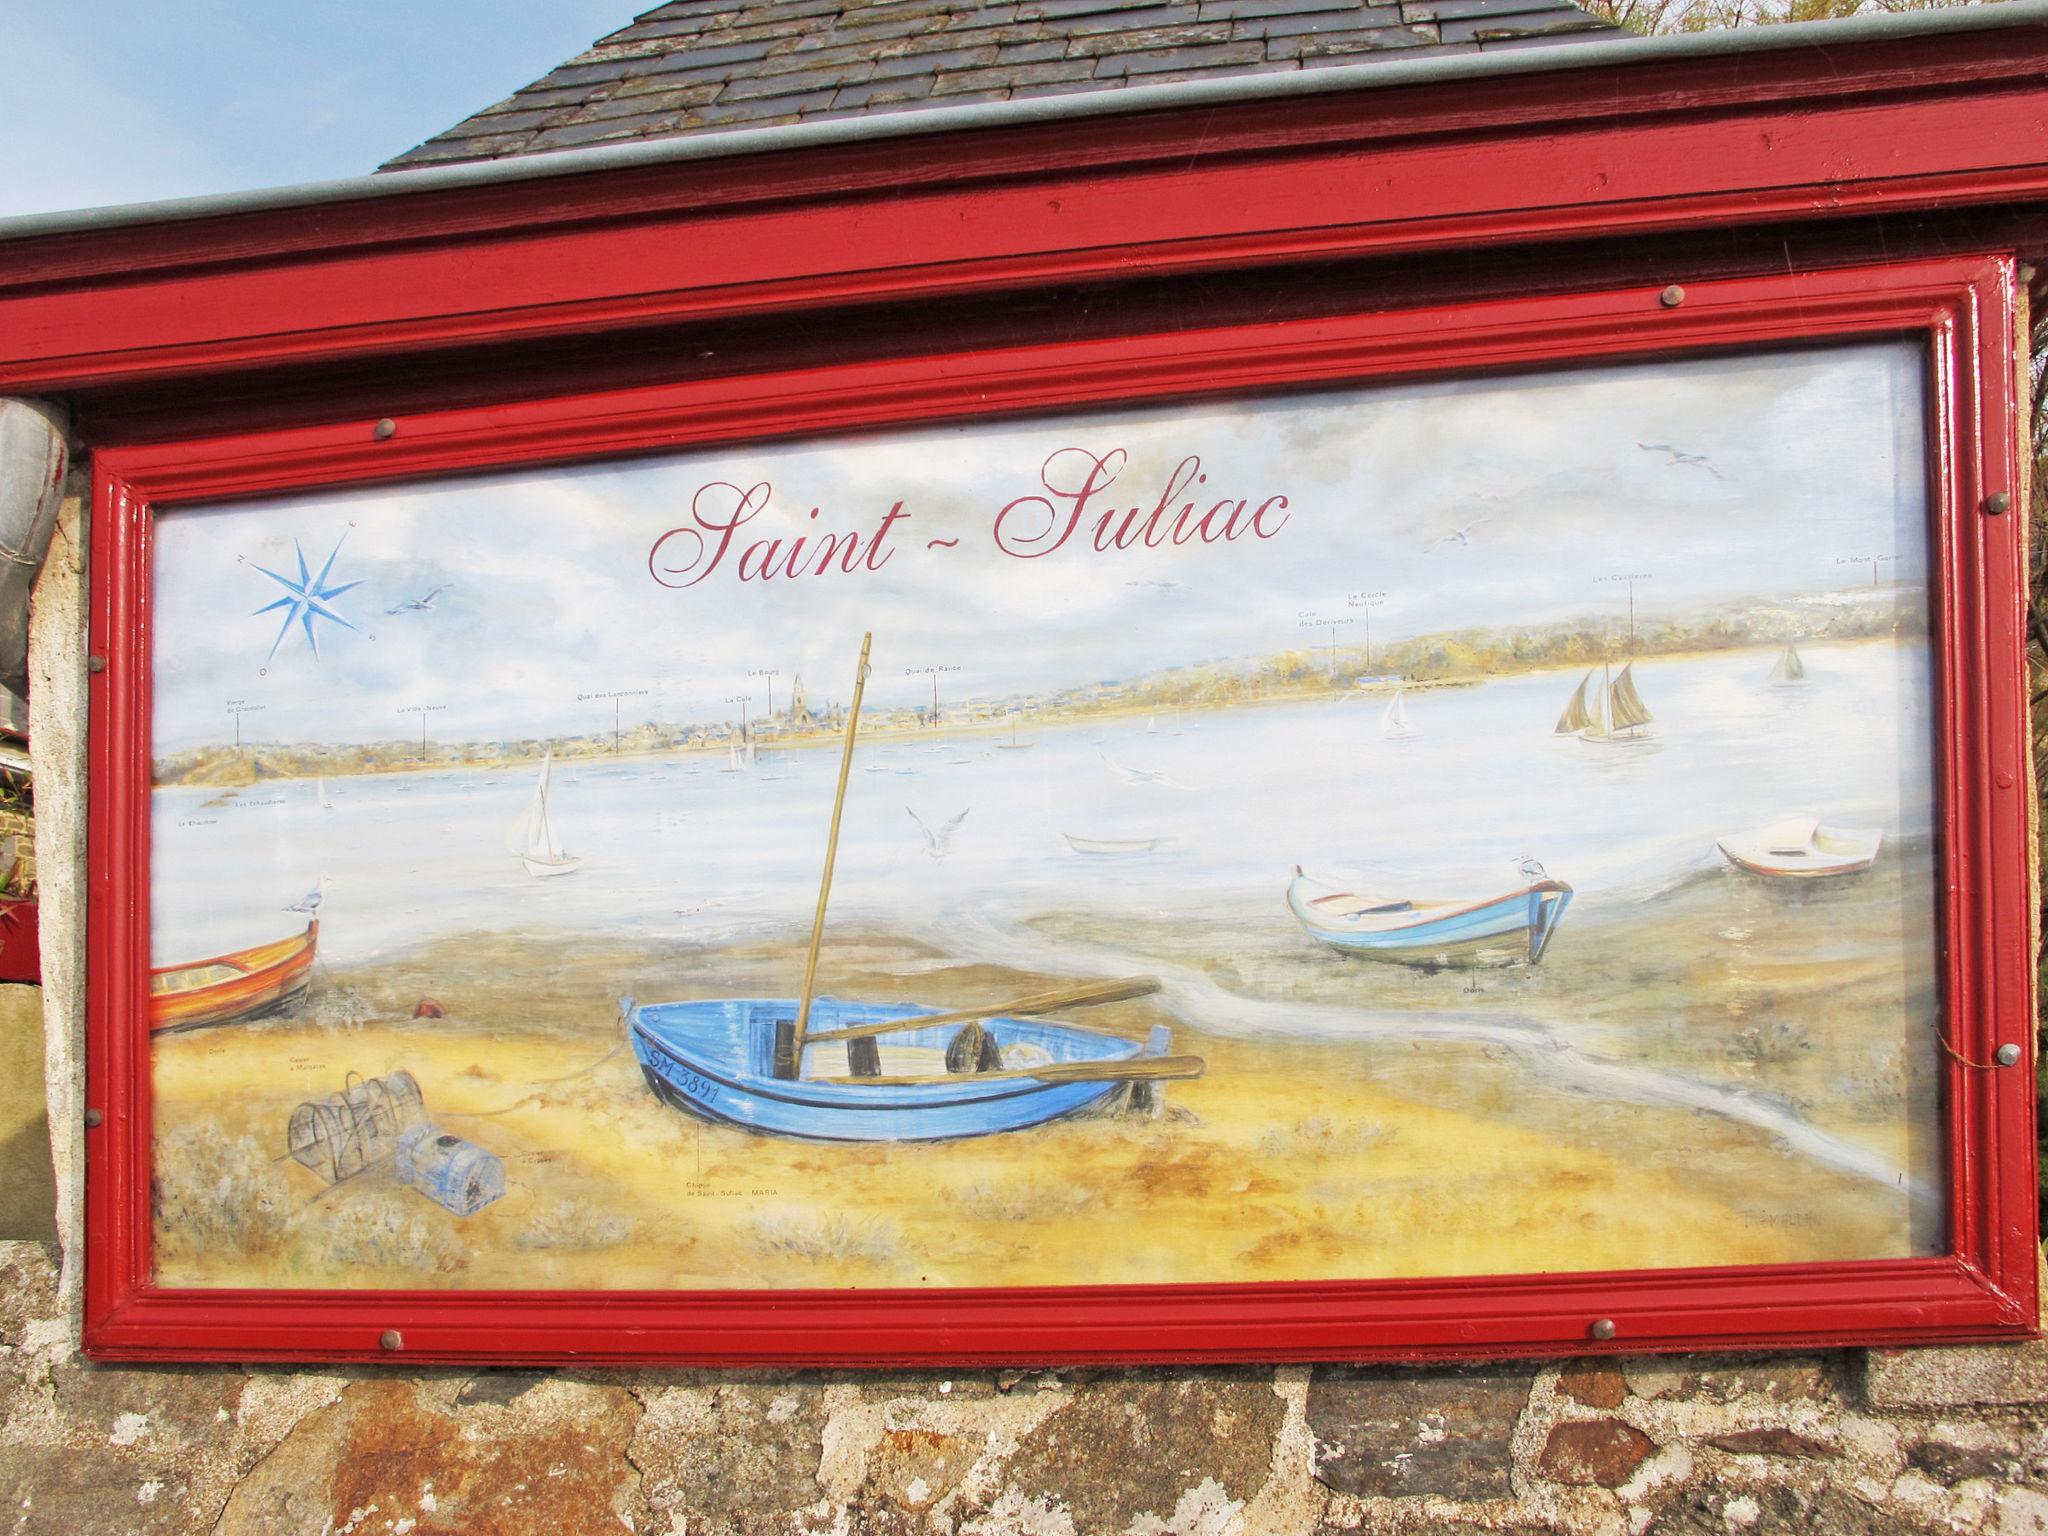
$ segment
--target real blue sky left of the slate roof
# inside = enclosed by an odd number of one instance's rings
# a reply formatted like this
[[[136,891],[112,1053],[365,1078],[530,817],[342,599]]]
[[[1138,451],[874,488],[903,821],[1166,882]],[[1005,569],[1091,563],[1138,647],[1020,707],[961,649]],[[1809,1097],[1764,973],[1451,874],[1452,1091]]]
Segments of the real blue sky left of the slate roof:
[[[0,217],[358,176],[657,0],[0,0]]]

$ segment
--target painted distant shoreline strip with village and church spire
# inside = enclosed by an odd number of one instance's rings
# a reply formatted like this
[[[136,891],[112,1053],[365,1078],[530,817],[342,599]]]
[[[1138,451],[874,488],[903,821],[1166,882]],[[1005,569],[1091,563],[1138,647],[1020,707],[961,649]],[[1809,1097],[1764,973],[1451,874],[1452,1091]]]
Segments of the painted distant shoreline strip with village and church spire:
[[[1870,586],[1808,600],[1763,600],[1688,618],[1642,618],[1632,635],[1612,618],[1575,618],[1520,629],[1466,629],[1366,645],[1300,645],[1264,657],[1212,659],[1137,678],[1085,682],[1044,694],[946,698],[860,715],[864,739],[1038,729],[1104,715],[1243,709],[1358,690],[1454,688],[1491,676],[1599,666],[1624,657],[1688,655],[1792,641],[1872,639],[1925,623],[1919,586]],[[633,721],[582,735],[436,741],[430,735],[350,745],[223,741],[162,756],[156,784],[240,786],[281,778],[502,768],[557,758],[705,752],[756,756],[836,743],[846,729],[840,700],[813,702],[795,678],[788,707],[719,721]]]

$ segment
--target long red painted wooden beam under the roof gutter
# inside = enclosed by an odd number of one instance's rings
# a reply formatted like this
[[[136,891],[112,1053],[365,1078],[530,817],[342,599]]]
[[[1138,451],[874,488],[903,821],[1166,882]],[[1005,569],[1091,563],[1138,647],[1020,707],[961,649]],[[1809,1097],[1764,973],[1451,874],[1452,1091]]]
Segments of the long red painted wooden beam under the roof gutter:
[[[0,389],[2048,199],[2048,27],[670,162],[12,242]]]

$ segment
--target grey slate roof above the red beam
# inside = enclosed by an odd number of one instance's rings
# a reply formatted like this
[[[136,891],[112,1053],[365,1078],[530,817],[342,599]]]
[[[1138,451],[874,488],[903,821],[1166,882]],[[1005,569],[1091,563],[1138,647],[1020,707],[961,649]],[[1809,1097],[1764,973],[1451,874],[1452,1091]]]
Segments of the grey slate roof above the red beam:
[[[1618,35],[1573,0],[674,0],[383,168]]]

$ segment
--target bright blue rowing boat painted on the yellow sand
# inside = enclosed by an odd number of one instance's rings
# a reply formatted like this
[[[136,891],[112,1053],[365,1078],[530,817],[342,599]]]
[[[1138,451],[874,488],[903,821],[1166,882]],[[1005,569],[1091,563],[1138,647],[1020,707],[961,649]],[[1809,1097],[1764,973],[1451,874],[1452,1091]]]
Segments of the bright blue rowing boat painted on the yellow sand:
[[[807,1040],[795,1075],[776,1075],[776,1036],[784,1044],[797,1001],[717,997],[680,1004],[618,1004],[655,1096],[686,1114],[776,1137],[809,1141],[956,1141],[1022,1130],[1102,1106],[1135,1081],[1192,1077],[1200,1061],[1167,1057],[1169,1032],[1155,1026],[1143,1042],[1038,1018],[983,1018],[981,1044],[965,1071],[944,1065],[961,1036],[915,1004],[858,1004],[817,997],[809,1028],[817,1034],[899,1024],[885,1049],[856,1077],[856,1040]],[[969,1026],[973,1028],[973,1026]],[[907,1067],[907,1069],[905,1069]],[[936,1071],[932,1071],[936,1067]]]

